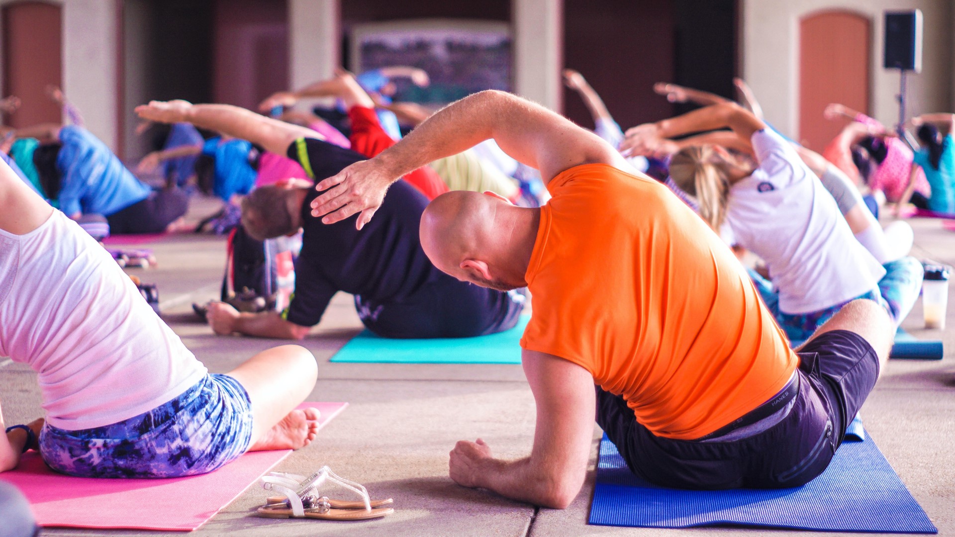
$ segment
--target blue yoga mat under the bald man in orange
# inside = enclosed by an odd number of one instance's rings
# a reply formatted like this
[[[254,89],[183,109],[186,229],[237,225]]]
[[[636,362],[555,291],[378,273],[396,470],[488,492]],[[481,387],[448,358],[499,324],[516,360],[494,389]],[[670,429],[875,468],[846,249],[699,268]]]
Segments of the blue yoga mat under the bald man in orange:
[[[590,524],[938,533],[872,440],[843,442],[829,468],[800,487],[714,491],[647,483],[630,472],[605,436]]]

